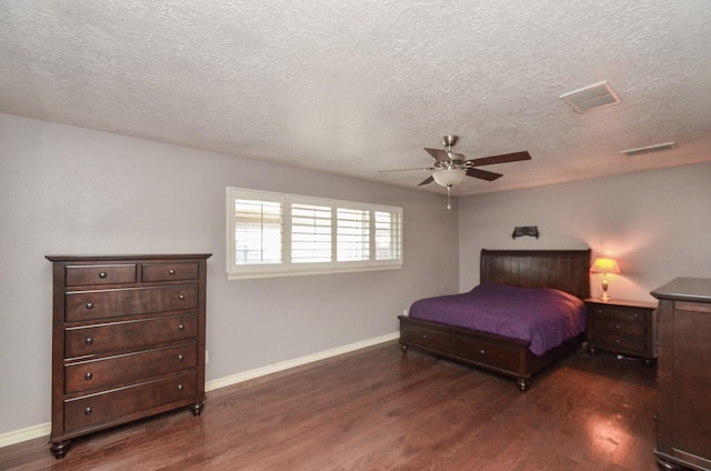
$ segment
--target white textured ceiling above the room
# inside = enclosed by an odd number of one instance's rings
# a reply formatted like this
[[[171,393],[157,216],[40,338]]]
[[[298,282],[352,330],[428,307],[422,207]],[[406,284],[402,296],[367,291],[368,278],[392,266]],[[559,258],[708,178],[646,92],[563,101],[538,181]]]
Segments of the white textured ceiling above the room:
[[[398,186],[531,153],[458,196],[711,160],[709,0],[0,0],[0,112]]]

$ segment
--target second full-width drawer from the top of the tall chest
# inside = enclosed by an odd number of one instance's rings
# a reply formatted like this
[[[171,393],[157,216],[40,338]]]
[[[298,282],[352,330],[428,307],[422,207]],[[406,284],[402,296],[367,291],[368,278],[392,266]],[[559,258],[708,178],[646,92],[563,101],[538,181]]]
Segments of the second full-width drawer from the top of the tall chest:
[[[139,350],[197,335],[197,313],[69,328],[64,332],[64,357]]]

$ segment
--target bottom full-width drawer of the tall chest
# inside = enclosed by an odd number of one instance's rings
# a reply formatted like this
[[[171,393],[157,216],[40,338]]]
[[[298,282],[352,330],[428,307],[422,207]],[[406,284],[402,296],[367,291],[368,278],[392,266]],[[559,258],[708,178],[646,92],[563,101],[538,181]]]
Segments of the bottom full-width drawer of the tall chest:
[[[196,400],[197,373],[190,372],[162,380],[64,401],[64,430],[71,433],[82,428],[100,425],[116,419],[192,403]]]

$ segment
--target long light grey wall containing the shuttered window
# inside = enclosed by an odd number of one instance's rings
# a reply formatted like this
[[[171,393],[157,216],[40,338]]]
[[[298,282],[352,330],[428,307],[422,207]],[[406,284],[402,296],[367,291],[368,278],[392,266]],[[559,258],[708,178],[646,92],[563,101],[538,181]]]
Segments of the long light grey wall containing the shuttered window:
[[[228,281],[226,187],[403,207],[404,268]],[[458,289],[442,196],[0,114],[0,434],[50,420],[46,254],[208,252],[208,380],[394,333]],[[454,236],[455,237],[455,236]],[[208,405],[209,407],[209,405]]]

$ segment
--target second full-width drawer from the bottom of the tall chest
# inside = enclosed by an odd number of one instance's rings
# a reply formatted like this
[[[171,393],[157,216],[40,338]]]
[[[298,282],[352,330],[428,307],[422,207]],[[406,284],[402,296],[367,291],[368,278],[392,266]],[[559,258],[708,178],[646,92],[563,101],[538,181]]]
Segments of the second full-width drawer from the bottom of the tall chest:
[[[64,367],[64,393],[108,389],[196,368],[198,344],[127,353]]]

